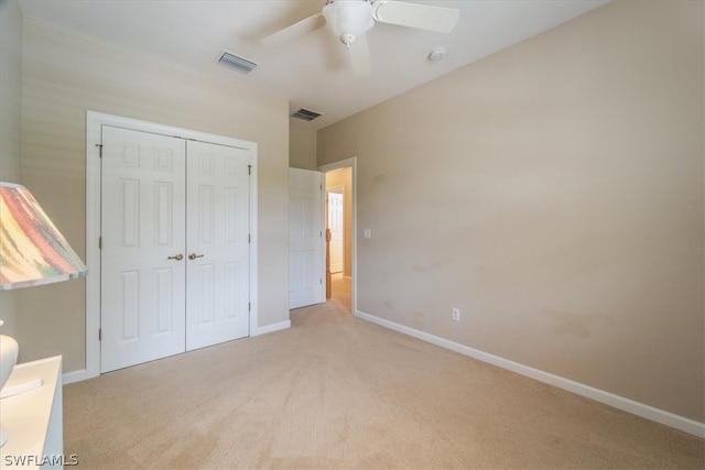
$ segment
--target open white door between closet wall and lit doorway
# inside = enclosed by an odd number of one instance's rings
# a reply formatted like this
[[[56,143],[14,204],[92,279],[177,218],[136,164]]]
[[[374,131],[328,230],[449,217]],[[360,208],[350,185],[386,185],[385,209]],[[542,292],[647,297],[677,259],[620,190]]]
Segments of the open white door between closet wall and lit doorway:
[[[325,302],[323,173],[289,168],[289,307]]]

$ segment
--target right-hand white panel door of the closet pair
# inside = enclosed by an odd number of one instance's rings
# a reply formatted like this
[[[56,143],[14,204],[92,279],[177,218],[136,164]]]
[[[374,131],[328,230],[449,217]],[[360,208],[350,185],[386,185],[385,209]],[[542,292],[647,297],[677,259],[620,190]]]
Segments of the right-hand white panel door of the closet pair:
[[[249,165],[247,150],[187,143],[186,350],[249,334]]]

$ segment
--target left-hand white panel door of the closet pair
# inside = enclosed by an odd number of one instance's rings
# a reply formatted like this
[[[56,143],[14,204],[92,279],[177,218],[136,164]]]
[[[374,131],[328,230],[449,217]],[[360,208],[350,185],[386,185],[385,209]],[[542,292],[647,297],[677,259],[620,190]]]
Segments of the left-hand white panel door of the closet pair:
[[[185,141],[104,125],[101,372],[184,351]]]

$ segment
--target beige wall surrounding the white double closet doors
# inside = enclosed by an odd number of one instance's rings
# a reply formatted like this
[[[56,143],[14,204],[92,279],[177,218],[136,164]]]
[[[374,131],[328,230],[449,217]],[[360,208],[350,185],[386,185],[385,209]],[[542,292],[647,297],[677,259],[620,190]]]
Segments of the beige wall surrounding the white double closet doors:
[[[25,20],[22,179],[85,256],[86,110],[259,144],[259,326],[289,320],[289,105]],[[89,275],[91,275],[89,273]],[[95,275],[95,274],[94,274]],[[85,280],[22,292],[22,360],[61,353],[85,368]]]

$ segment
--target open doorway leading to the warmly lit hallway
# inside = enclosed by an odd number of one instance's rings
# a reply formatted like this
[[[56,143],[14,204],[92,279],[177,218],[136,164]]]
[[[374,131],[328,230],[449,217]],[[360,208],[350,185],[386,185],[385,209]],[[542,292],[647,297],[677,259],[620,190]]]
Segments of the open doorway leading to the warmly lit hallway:
[[[326,298],[351,314],[356,295],[356,159],[318,170],[325,175]]]

